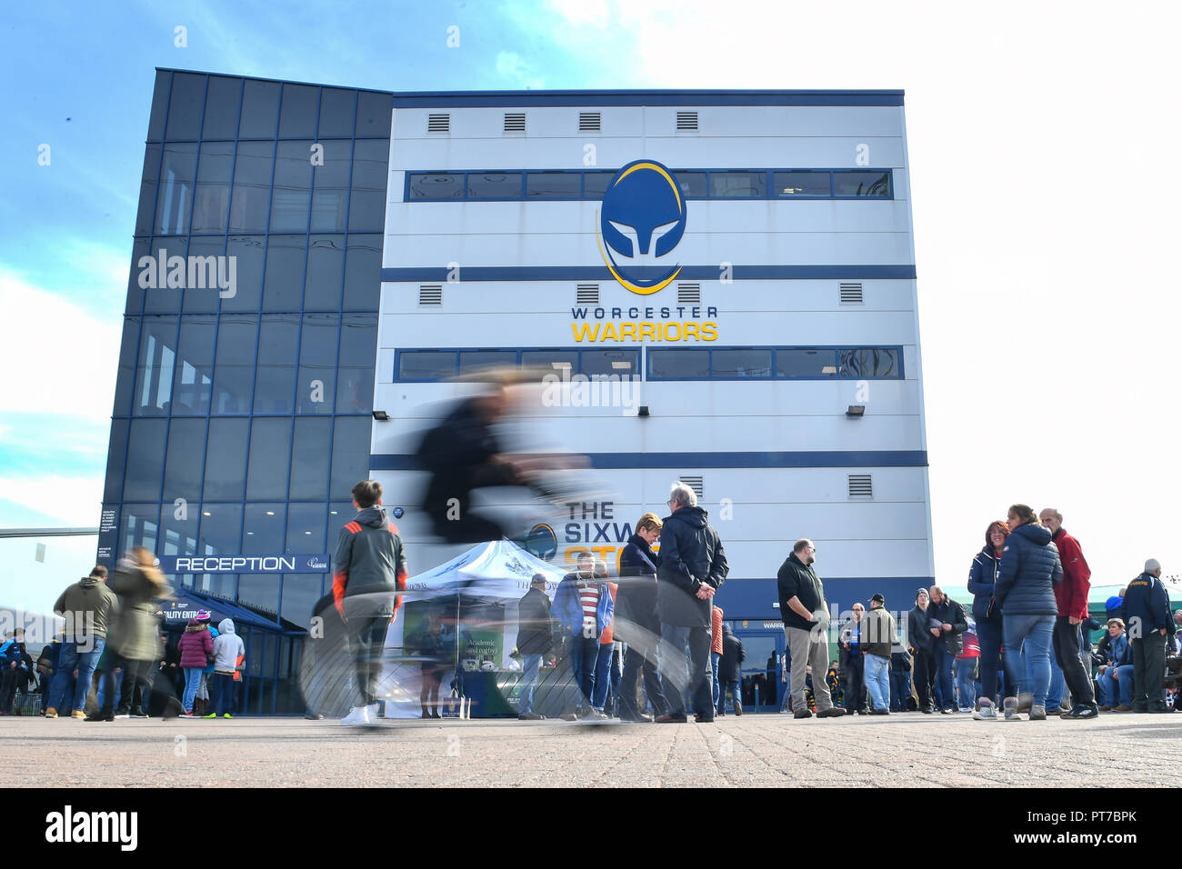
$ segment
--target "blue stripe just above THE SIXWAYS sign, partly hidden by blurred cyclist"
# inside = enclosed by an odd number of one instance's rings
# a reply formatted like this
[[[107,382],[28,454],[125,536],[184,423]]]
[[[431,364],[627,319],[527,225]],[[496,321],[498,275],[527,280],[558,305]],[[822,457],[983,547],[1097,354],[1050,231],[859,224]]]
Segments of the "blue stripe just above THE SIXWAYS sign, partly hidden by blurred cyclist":
[[[593,468],[926,468],[923,449],[772,453],[585,453]],[[409,454],[370,456],[372,471],[417,471]]]

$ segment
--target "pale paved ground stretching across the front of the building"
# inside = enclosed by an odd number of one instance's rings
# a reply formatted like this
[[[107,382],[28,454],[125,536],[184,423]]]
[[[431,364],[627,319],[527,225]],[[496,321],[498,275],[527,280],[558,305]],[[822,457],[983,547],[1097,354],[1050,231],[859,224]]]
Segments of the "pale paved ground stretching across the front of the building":
[[[0,719],[0,786],[1176,786],[1182,714],[713,725]]]

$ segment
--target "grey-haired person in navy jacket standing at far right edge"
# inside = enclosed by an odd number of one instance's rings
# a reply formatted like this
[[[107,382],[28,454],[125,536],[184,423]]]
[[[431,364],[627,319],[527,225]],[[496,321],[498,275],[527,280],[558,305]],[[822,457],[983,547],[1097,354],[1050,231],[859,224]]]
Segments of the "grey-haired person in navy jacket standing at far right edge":
[[[1132,646],[1132,711],[1169,712],[1162,692],[1165,677],[1167,637],[1175,634],[1170,596],[1162,585],[1162,565],[1156,558],[1129,583],[1124,612]]]

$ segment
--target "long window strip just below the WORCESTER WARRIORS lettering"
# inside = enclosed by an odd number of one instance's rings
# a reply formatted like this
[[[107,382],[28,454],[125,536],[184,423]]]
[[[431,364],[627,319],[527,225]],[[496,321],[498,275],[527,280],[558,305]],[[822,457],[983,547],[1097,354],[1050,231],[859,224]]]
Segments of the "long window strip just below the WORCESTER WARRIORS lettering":
[[[903,378],[903,348],[649,349],[650,381]],[[586,376],[637,375],[639,350],[400,350],[395,380],[442,381],[520,365]]]

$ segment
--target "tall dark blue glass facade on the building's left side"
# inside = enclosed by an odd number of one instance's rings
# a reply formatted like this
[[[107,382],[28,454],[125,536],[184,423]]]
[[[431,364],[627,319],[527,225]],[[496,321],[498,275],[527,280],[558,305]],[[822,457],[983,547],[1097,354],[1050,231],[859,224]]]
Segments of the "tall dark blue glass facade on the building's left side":
[[[388,92],[157,71],[100,560],[320,553],[351,518],[369,473],[391,106]],[[170,579],[288,629],[329,585]],[[248,711],[298,712],[298,653],[264,636],[251,633]]]

